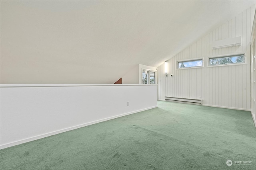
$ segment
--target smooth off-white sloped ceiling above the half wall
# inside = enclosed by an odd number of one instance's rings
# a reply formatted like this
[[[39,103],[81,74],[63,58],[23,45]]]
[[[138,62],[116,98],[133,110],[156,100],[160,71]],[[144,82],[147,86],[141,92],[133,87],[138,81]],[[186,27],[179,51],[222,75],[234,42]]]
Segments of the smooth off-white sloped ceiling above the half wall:
[[[114,83],[255,1],[1,1],[1,83]]]

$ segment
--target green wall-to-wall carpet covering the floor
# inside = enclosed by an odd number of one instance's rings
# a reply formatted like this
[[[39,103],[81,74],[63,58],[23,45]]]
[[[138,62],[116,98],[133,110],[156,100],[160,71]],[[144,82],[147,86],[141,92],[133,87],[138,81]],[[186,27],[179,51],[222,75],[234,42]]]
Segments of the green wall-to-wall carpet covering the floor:
[[[158,101],[0,156],[1,170],[255,170],[256,129],[249,111]]]

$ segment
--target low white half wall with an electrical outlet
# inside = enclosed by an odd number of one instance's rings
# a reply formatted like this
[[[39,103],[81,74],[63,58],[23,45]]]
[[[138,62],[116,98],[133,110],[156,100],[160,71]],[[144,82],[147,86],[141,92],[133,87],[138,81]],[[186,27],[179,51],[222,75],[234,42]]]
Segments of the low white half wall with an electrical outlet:
[[[157,107],[157,85],[2,84],[0,102],[3,149]]]

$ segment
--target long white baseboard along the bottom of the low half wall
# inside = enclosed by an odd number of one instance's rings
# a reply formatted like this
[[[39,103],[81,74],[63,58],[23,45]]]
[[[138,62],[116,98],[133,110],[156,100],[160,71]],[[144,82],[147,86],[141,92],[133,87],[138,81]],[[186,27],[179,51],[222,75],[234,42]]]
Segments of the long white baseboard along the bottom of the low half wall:
[[[12,142],[12,143],[1,145],[0,149],[5,149],[5,148],[8,148],[8,147],[13,147],[15,145],[20,145],[22,143],[27,143],[27,142],[30,142],[30,141],[35,141],[37,139],[42,139],[44,137],[49,137],[49,136],[56,135],[56,134],[59,134],[59,133],[63,133],[63,132],[71,131],[71,130],[74,130],[74,129],[78,129],[80,127],[85,127],[85,126],[92,125],[92,124],[95,124],[95,123],[100,123],[100,122],[103,122],[103,121],[107,121],[107,120],[110,120],[110,119],[115,119],[115,118],[118,118],[118,117],[130,115],[130,114],[133,114],[133,113],[138,113],[140,111],[145,111],[145,110],[153,109],[153,108],[156,108],[156,107],[158,107],[158,106],[148,107],[148,108],[145,108],[145,109],[140,109],[140,110],[137,110],[137,111],[132,111],[132,112],[129,112],[129,113],[124,113],[124,114],[108,117],[108,118],[105,118],[105,119],[100,119],[100,120],[97,120],[97,121],[92,121],[92,122],[84,123],[82,125],[76,125],[76,126],[73,126],[73,127],[68,127],[68,128],[65,128],[65,129],[60,129],[58,131],[53,131],[53,132],[50,132],[50,133],[45,133],[45,134],[42,134],[42,135],[37,135],[37,136],[30,137],[30,138],[27,138],[27,139],[22,139],[20,141],[15,141],[15,142]]]

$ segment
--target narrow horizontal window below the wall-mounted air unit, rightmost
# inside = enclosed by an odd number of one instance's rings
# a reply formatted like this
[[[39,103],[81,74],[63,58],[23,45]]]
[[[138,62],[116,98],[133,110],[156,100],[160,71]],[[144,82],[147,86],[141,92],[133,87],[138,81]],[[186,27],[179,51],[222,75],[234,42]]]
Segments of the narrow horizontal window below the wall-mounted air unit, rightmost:
[[[244,54],[209,58],[210,66],[236,64],[236,63],[244,63],[244,62],[245,62]]]

